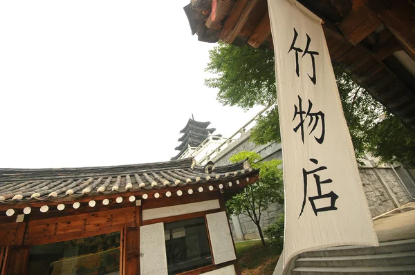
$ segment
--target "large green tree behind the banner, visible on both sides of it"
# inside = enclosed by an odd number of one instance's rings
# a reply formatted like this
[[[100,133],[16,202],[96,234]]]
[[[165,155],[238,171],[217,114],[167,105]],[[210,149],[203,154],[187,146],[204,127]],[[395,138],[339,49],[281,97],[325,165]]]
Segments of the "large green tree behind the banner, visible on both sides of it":
[[[334,69],[356,158],[361,158],[365,151],[370,149],[374,155],[380,156],[386,162],[412,163],[414,167],[411,160],[415,159],[415,151],[411,144],[414,142],[415,130],[407,128],[394,115],[387,113],[385,108],[364,88],[354,83],[349,75],[336,66]],[[219,90],[217,98],[224,105],[240,106],[246,110],[255,105],[276,102],[273,50],[219,43],[210,50],[210,62],[206,71],[213,73],[214,77],[205,79],[205,85]],[[379,119],[383,116],[388,120]],[[391,129],[389,124],[392,121],[397,129],[393,133],[388,133],[389,138],[385,140],[382,129]],[[258,118],[257,126],[251,131],[251,139],[256,144],[281,141],[276,106]],[[395,154],[394,148],[399,148]],[[391,153],[394,154],[393,158]]]

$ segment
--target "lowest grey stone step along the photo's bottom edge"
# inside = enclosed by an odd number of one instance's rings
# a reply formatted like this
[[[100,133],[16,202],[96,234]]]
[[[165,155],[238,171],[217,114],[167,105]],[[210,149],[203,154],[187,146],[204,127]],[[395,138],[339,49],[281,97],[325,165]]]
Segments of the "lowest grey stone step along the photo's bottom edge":
[[[414,275],[415,265],[382,266],[382,267],[296,267],[293,275]]]

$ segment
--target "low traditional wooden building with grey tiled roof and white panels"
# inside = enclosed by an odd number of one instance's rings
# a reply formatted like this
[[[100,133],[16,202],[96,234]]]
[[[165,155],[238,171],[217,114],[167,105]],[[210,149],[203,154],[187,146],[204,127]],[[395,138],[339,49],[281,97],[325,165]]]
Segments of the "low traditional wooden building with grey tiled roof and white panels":
[[[240,274],[225,201],[258,173],[192,158],[0,169],[0,274]]]

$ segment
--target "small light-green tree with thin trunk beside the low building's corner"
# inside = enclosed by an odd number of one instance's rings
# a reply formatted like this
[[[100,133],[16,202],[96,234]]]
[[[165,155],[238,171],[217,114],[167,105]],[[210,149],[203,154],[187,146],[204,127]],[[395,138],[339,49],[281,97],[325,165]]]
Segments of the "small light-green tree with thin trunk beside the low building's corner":
[[[250,151],[241,151],[230,158],[231,162],[239,162],[248,159],[250,166],[260,169],[259,180],[243,189],[232,199],[226,202],[228,214],[248,216],[257,225],[262,245],[265,244],[264,234],[261,229],[261,214],[268,208],[270,203],[284,202],[284,189],[282,183],[282,169],[279,165],[281,160],[260,161],[261,155]]]

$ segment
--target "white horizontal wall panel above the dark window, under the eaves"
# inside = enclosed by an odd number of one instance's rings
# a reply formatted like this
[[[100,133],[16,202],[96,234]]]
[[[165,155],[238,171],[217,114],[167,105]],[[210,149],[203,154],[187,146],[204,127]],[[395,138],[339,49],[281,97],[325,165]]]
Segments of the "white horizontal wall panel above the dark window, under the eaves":
[[[178,216],[219,208],[221,208],[221,205],[219,205],[219,200],[205,200],[204,202],[192,202],[186,203],[185,205],[145,209],[142,210],[142,220]]]

